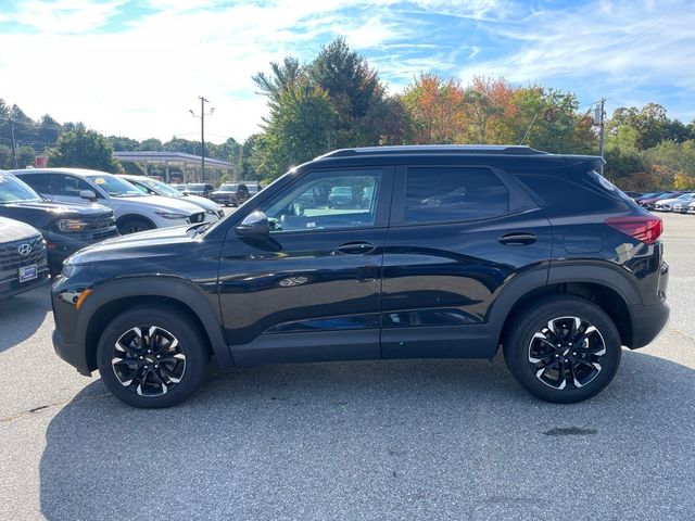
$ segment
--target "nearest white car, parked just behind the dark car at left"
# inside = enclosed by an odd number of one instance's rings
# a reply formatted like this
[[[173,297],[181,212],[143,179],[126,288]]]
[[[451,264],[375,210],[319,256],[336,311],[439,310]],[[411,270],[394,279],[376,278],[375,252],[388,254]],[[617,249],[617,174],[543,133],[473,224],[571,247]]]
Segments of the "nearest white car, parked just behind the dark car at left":
[[[76,204],[98,202],[113,209],[122,234],[153,228],[203,223],[205,212],[186,201],[146,195],[124,179],[83,168],[12,170],[50,201]]]

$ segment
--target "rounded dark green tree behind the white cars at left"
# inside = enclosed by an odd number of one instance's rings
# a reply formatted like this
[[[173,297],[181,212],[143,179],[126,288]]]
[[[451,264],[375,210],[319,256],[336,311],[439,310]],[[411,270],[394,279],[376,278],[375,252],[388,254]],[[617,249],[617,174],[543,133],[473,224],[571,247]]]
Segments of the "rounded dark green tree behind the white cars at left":
[[[109,140],[85,125],[77,124],[73,130],[63,131],[55,147],[49,151],[49,165],[93,168],[96,170],[119,171],[121,165],[113,156]]]

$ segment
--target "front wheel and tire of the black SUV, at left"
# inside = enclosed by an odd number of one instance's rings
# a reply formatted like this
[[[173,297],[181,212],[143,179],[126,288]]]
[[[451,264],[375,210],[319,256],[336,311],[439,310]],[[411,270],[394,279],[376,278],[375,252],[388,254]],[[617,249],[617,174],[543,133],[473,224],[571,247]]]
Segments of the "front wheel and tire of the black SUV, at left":
[[[134,407],[180,404],[207,372],[210,353],[204,334],[175,307],[132,307],[114,318],[99,340],[101,379],[115,397]],[[148,345],[150,341],[153,345]]]

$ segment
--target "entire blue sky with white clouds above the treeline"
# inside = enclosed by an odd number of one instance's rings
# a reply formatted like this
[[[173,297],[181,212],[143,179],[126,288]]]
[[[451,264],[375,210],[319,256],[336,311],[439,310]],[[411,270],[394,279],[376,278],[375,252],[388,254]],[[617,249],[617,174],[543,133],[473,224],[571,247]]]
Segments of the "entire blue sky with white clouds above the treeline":
[[[267,112],[253,74],[338,36],[391,93],[421,73],[504,77],[695,118],[695,0],[0,0],[0,98],[165,141],[200,138],[204,96],[206,140],[243,140]]]

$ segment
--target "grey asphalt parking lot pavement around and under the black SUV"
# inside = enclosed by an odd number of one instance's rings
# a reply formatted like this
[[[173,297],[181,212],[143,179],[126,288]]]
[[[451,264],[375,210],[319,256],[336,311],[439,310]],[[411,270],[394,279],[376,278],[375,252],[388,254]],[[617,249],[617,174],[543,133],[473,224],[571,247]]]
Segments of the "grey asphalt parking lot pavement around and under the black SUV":
[[[54,355],[47,288],[0,301],[0,519],[693,519],[695,216],[662,217],[671,321],[578,405],[497,357],[211,371],[137,410]]]

